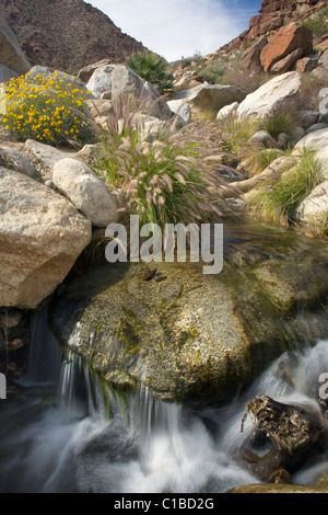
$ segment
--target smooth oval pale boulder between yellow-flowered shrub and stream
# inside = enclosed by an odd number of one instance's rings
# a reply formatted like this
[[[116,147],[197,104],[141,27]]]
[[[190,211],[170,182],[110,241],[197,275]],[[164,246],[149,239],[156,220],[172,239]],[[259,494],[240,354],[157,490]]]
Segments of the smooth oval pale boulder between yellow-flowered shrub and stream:
[[[85,163],[66,158],[54,167],[52,182],[95,227],[117,221],[117,205],[104,181]]]

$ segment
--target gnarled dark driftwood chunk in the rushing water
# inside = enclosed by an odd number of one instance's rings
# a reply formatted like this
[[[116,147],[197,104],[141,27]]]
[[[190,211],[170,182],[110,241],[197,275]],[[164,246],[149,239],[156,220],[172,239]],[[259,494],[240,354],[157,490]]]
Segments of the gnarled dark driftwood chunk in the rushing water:
[[[326,436],[324,419],[311,407],[256,397],[246,407],[241,431],[248,414],[255,417],[254,431],[238,449],[238,459],[263,482],[290,482],[290,473],[301,467]],[[263,456],[261,447],[267,449]]]

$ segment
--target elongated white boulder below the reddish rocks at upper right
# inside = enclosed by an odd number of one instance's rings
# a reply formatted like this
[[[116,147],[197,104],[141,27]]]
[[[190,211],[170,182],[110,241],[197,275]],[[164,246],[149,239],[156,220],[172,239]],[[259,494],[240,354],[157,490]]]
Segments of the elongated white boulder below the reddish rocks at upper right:
[[[300,89],[301,76],[296,71],[278,76],[248,94],[238,106],[237,115],[265,116],[274,110],[294,110],[298,104]]]

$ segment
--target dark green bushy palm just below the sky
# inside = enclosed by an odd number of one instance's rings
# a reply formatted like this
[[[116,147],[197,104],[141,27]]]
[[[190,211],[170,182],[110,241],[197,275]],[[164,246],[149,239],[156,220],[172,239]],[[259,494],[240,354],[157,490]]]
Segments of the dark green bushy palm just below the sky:
[[[173,76],[168,72],[168,64],[153,52],[133,54],[126,60],[126,65],[153,84],[160,93],[173,89]]]

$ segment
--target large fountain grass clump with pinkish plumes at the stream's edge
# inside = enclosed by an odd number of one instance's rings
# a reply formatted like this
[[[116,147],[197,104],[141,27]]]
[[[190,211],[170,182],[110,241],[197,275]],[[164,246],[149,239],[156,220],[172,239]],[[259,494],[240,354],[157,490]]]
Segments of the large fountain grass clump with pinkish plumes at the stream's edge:
[[[108,115],[108,131],[96,171],[119,188],[126,213],[142,224],[160,226],[218,219],[225,184],[218,152],[216,124],[189,124],[178,131],[163,130],[154,141],[143,140],[142,123],[121,101]]]

